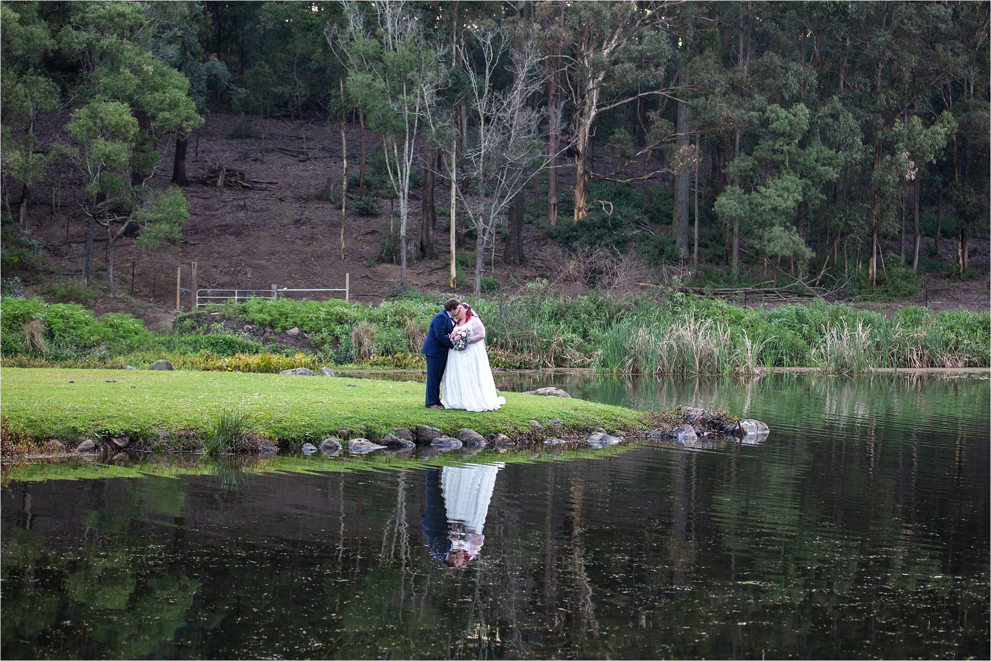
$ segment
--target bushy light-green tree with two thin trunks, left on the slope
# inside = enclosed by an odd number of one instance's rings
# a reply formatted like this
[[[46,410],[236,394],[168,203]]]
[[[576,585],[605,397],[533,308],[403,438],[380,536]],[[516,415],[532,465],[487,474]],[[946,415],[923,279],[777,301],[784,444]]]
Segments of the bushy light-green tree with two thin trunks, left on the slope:
[[[169,12],[182,10],[179,4],[75,3],[58,33],[60,50],[79,66],[75,94],[82,103],[66,127],[72,141],[60,149],[86,192],[80,204],[88,219],[83,279],[91,279],[95,228],[103,225],[110,293],[114,246],[139,222],[136,212],[152,204],[148,181],[161,160],[159,140],[203,121],[187,95],[188,79],[148,50],[161,25],[176,18]],[[147,208],[145,215],[152,218]]]

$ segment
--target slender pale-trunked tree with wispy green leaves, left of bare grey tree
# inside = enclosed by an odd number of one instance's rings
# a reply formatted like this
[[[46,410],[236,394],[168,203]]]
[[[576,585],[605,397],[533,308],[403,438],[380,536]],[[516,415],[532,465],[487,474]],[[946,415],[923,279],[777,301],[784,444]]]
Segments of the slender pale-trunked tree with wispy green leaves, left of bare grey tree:
[[[410,175],[416,145],[437,92],[447,84],[443,52],[426,43],[419,17],[401,1],[344,3],[344,25],[328,44],[348,69],[345,87],[383,140],[385,171],[399,203],[402,286],[407,286]]]

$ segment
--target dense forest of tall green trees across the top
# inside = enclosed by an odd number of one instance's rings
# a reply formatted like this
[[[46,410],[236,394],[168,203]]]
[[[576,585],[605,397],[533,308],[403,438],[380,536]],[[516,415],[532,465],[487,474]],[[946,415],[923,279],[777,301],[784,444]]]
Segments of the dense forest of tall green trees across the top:
[[[987,239],[987,3],[0,11],[5,243],[27,231],[55,161],[71,163],[84,191],[83,279],[105,236],[111,293],[120,240],[179,236],[187,144],[211,111],[239,114],[263,138],[273,117],[341,141],[357,123],[358,162],[344,145],[343,168],[314,182],[340,202],[341,236],[327,245],[344,260],[349,215],[387,199],[402,285],[409,258],[450,245],[452,286],[453,248],[474,249],[461,267],[474,268],[478,293],[496,242],[504,262],[525,262],[534,214],[563,250],[709,265],[726,283],[763,273],[874,286],[927,261],[967,277],[971,242]],[[39,147],[46,114],[67,116],[51,149]],[[173,185],[152,185],[167,161]],[[434,190],[450,191],[449,209],[435,208]],[[940,241],[955,246],[954,264],[940,264]]]

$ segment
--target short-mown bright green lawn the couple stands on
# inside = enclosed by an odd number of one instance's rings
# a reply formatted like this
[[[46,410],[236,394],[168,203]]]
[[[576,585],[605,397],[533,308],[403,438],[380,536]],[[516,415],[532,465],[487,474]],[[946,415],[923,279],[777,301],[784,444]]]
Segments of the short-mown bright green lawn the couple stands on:
[[[491,438],[561,420],[562,433],[641,424],[639,411],[582,399],[503,392],[500,410],[476,413],[423,406],[422,384],[327,377],[130,370],[0,370],[5,434],[44,442],[107,439],[128,433],[154,444],[159,433],[193,432],[225,410],[247,413],[254,431],[284,444],[319,441],[339,430],[380,438],[396,427],[468,427]],[[366,429],[362,429],[365,425]],[[557,434],[557,432],[555,432]],[[186,434],[189,436],[190,434]]]

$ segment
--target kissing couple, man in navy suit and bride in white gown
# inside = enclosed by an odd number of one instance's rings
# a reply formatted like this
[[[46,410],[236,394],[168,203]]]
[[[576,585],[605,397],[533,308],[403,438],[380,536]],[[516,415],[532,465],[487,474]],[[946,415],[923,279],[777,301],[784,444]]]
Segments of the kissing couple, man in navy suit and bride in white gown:
[[[495,390],[485,338],[486,327],[471,305],[457,298],[444,302],[420,349],[427,358],[427,408],[494,411],[505,403]]]

